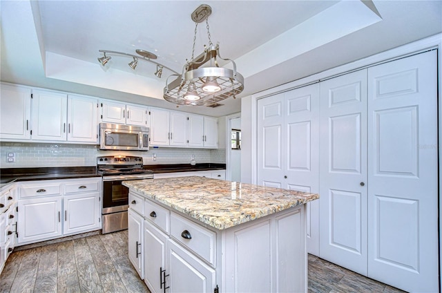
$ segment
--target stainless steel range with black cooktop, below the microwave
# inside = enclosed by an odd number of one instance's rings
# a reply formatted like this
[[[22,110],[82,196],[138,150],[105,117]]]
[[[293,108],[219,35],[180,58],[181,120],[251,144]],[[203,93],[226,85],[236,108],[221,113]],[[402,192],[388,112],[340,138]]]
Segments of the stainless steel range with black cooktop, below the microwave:
[[[153,172],[143,169],[142,157],[106,155],[97,158],[97,173],[103,176],[103,234],[127,229],[129,189],[122,182],[153,179]]]

